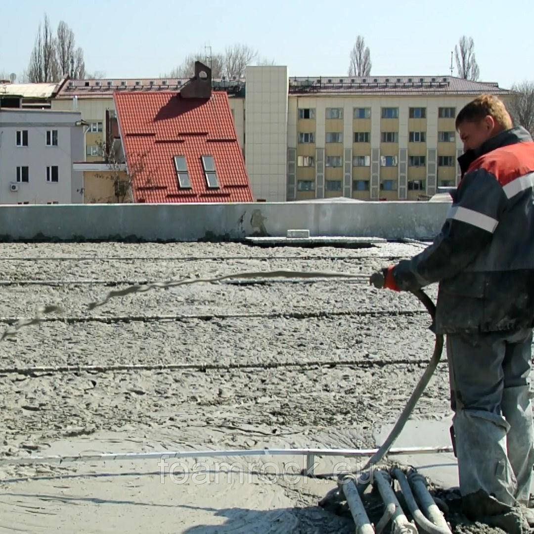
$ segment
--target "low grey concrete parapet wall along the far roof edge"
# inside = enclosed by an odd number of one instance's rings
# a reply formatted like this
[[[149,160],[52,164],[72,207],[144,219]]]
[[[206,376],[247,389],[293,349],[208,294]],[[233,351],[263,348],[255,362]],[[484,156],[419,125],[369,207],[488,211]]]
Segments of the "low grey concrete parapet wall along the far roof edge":
[[[0,206],[0,238],[239,240],[309,229],[310,236],[424,239],[439,232],[449,207],[448,202]]]

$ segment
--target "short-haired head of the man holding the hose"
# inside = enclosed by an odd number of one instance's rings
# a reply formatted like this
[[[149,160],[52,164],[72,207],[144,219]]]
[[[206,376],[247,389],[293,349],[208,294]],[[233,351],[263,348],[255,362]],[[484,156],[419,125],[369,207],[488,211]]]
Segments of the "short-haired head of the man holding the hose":
[[[504,104],[493,95],[481,95],[464,106],[456,117],[456,129],[464,151],[475,150],[490,137],[512,128]]]

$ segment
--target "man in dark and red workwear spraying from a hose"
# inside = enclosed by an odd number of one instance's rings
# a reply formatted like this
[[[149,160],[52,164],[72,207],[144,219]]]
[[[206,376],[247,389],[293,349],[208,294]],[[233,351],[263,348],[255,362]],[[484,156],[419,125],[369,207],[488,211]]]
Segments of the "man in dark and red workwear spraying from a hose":
[[[439,282],[434,326],[446,334],[462,507],[469,519],[523,532],[534,523],[534,143],[491,95],[462,108],[456,130],[461,181],[442,230],[384,269],[384,287]]]

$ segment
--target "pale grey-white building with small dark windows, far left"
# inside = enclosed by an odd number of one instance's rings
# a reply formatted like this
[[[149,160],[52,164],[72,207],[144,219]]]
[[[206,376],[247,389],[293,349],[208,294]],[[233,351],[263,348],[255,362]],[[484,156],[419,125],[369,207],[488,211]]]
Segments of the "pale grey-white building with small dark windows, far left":
[[[0,204],[81,203],[81,113],[0,109]]]

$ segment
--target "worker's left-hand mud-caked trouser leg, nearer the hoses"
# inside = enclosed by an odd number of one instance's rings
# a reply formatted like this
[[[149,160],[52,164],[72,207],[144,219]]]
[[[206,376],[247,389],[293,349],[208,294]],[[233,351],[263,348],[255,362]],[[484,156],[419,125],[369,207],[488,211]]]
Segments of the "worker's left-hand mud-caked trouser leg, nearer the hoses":
[[[447,359],[460,493],[515,505],[516,478],[507,457],[509,424],[501,414],[506,334],[449,334]],[[484,512],[482,498],[477,498]],[[489,505],[488,505],[489,506]]]

